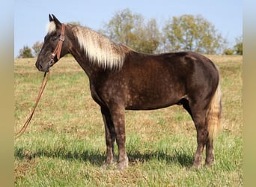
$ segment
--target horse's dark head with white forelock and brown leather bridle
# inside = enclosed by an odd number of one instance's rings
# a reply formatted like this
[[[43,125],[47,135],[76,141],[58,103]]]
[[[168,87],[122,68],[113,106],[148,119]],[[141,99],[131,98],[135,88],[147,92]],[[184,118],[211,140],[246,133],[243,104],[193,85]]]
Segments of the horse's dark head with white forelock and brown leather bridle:
[[[36,67],[38,70],[47,72],[59,58],[68,51],[68,40],[64,28],[66,26],[54,16],[49,15],[48,33],[44,37],[43,47],[37,57]]]

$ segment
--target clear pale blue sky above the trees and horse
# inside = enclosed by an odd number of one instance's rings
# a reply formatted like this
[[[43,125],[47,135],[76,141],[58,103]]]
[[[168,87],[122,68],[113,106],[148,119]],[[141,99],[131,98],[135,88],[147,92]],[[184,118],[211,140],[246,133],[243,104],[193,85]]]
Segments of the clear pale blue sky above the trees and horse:
[[[233,47],[243,35],[242,0],[14,0],[14,57],[23,46],[43,41],[49,13],[61,22],[80,22],[94,30],[103,28],[120,10],[129,8],[144,19],[155,18],[159,29],[168,19],[183,14],[201,14]]]

